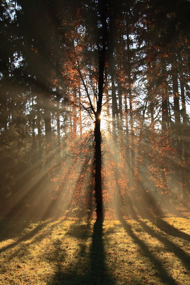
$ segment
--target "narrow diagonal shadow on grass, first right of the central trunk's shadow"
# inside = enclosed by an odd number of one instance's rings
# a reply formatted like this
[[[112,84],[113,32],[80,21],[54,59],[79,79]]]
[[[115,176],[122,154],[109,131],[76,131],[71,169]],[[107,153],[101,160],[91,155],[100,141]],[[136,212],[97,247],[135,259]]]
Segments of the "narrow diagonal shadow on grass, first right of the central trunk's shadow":
[[[134,243],[136,243],[136,245],[140,246],[140,248],[142,249],[143,255],[147,256],[149,258],[149,260],[154,264],[154,266],[157,269],[158,272],[158,277],[160,278],[160,280],[164,283],[164,284],[168,284],[168,285],[177,285],[177,283],[175,282],[175,280],[168,275],[167,271],[165,270],[165,268],[162,266],[162,263],[160,262],[160,260],[158,260],[158,258],[156,258],[151,251],[148,249],[148,246],[146,245],[146,243],[144,243],[144,241],[140,240],[132,231],[131,226],[121,217],[120,218],[120,222],[123,225],[124,229],[126,230],[126,232],[128,233],[128,235],[133,239]]]

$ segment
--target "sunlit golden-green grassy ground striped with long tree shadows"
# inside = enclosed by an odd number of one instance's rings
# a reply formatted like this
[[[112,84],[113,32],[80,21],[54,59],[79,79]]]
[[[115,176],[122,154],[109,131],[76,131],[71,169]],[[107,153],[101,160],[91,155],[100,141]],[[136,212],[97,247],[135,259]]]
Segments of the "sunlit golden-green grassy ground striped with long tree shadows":
[[[0,284],[189,285],[189,219],[1,219]]]

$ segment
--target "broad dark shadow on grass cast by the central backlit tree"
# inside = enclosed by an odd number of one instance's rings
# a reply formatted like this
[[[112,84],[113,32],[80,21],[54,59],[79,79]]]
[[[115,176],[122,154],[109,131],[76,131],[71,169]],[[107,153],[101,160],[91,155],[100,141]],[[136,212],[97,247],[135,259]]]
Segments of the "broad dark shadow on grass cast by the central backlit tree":
[[[90,225],[74,225],[70,228],[68,235],[72,235],[83,243],[79,244],[79,252],[76,253],[75,263],[63,268],[62,260],[57,262],[57,270],[50,278],[48,285],[114,285],[115,280],[108,272],[105,263],[105,250],[103,244],[103,224],[96,221],[93,226],[92,235],[89,232]],[[90,252],[87,251],[86,242],[92,238]]]

